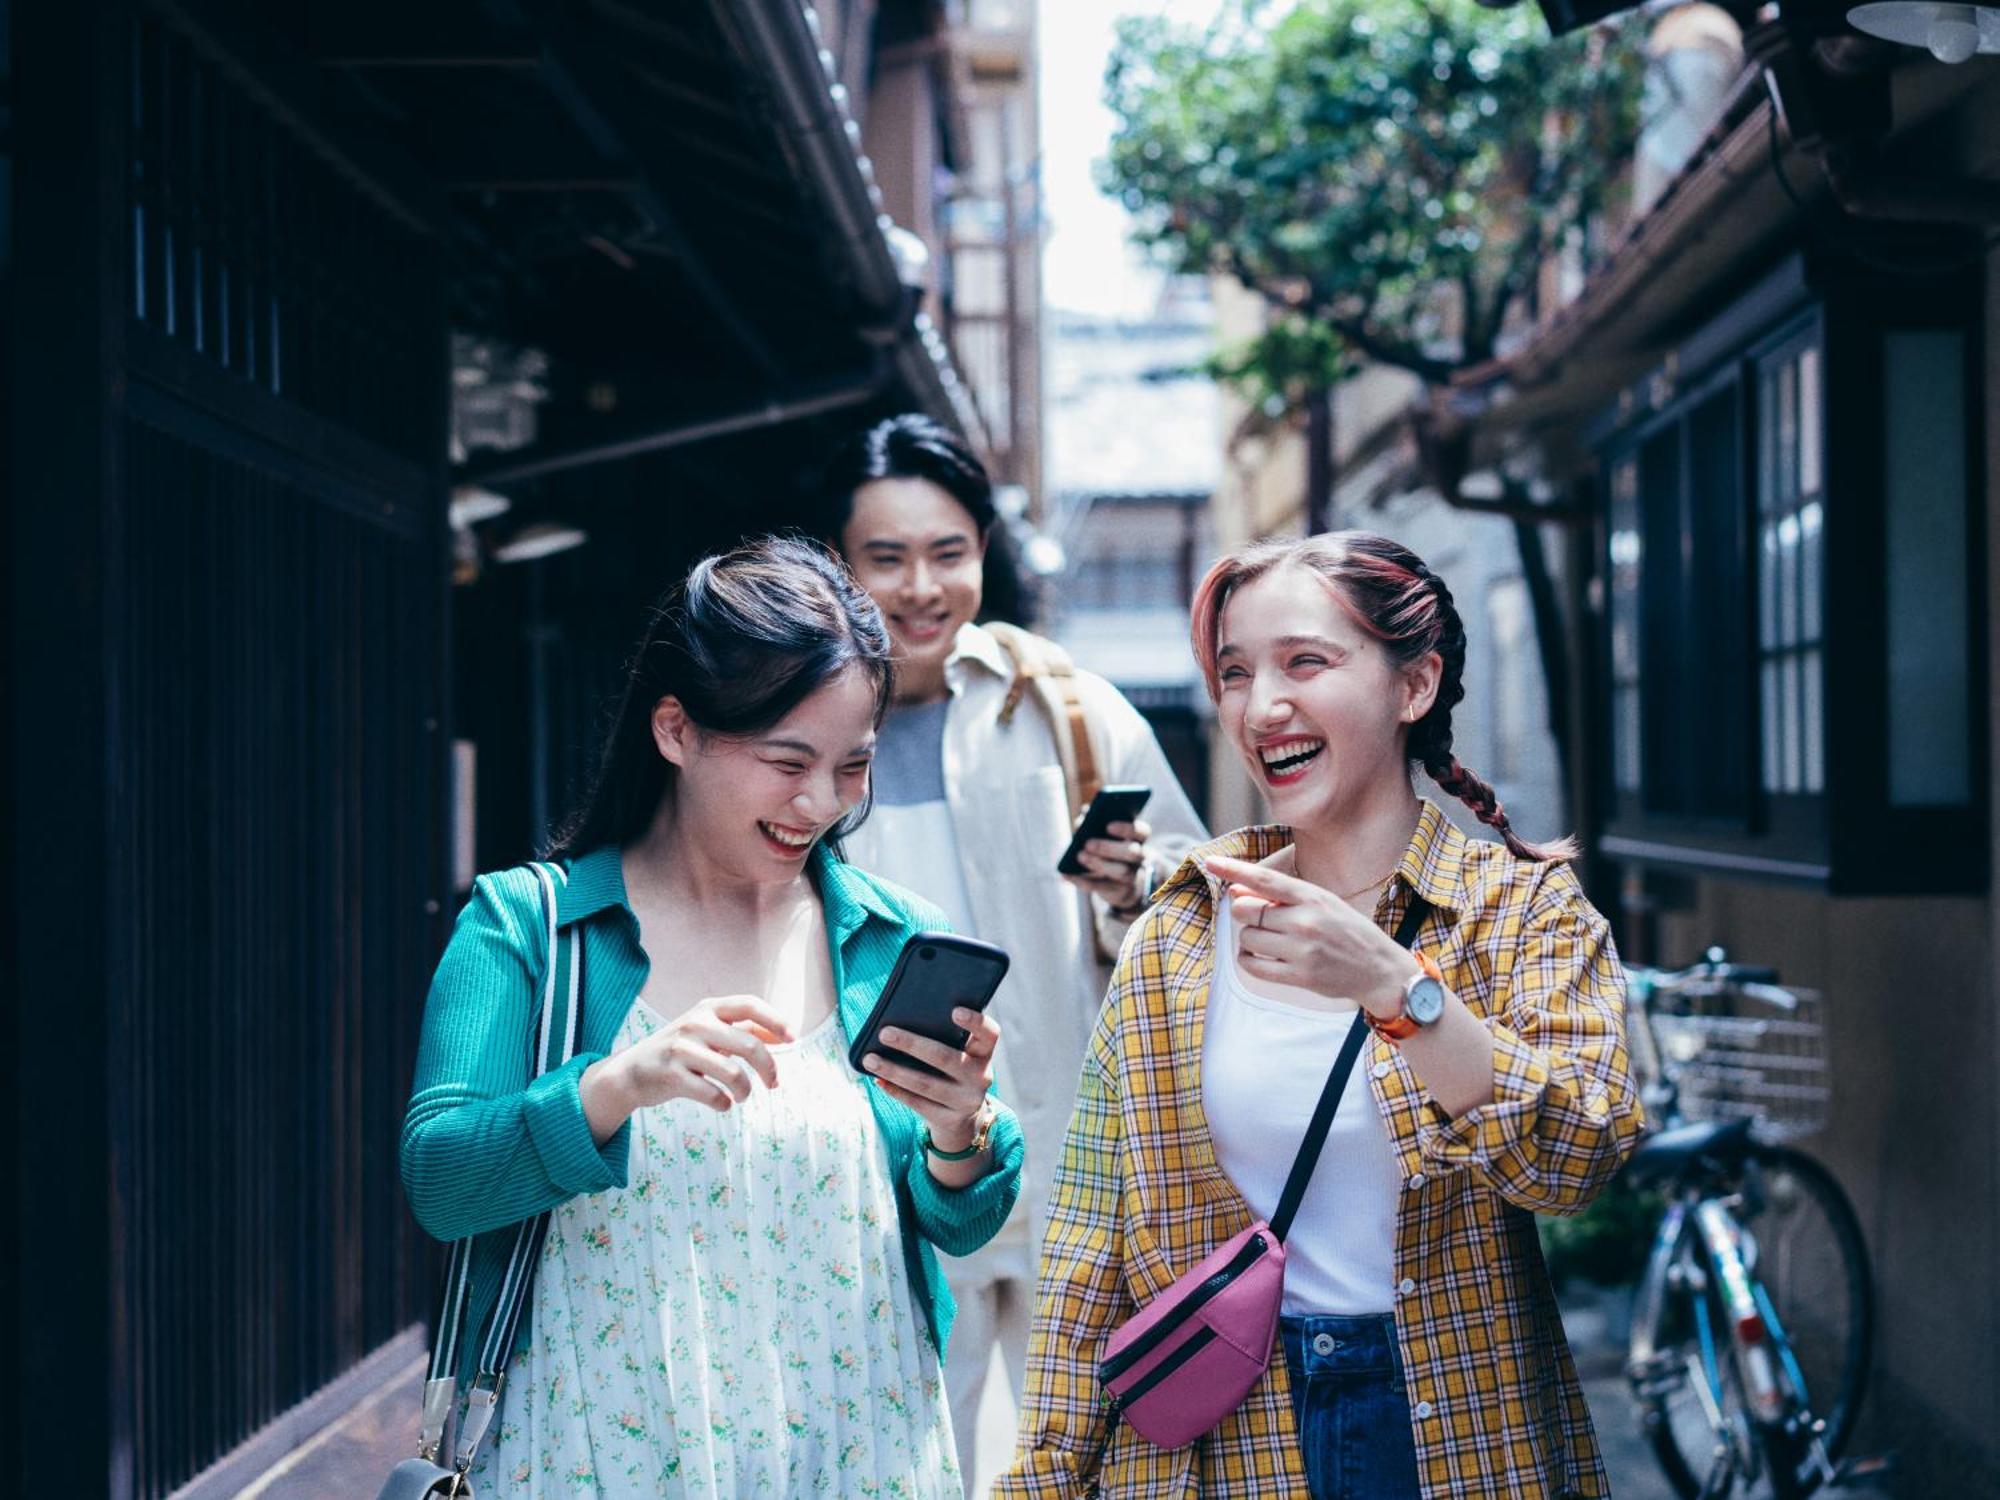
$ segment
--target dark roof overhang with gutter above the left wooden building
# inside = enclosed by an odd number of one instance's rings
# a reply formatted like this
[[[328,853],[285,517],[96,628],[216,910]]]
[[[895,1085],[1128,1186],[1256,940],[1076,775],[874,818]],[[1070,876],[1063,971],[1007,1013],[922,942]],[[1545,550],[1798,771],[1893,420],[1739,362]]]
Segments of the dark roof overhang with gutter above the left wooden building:
[[[542,442],[518,464],[844,404],[978,436],[796,0],[354,0],[272,20],[352,134],[440,200],[454,322],[548,352]]]

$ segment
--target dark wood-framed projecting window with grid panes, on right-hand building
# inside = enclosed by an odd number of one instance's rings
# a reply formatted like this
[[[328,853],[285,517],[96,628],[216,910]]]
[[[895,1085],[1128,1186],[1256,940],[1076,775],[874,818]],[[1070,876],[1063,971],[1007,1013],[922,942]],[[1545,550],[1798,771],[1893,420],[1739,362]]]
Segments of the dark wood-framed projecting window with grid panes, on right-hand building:
[[[1798,256],[1604,414],[1600,852],[1986,886],[1982,316]]]

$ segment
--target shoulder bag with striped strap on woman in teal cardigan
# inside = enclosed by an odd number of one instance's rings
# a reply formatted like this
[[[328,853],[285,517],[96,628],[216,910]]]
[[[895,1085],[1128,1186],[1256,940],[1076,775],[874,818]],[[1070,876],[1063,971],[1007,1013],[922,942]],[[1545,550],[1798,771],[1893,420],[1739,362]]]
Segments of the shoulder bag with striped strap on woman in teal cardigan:
[[[556,928],[556,890],[568,878],[560,864],[530,864],[542,884],[542,924],[548,932],[546,952],[554,962],[542,982],[540,1024],[530,1034],[534,1056],[530,1076],[560,1068],[576,1056],[582,1038],[582,950],[576,928]],[[560,946],[558,946],[560,944]],[[520,1316],[528,1308],[534,1268],[548,1238],[548,1214],[536,1214],[514,1226],[506,1276],[486,1328],[480,1332],[478,1374],[460,1396],[458,1362],[466,1336],[466,1298],[472,1286],[472,1238],[452,1242],[444,1268],[444,1294],[430,1336],[430,1374],[424,1380],[424,1424],[418,1432],[416,1458],[404,1458],[390,1470],[376,1500],[472,1500],[472,1460],[500,1410],[500,1386],[506,1362],[514,1352]],[[446,1446],[446,1428],[458,1418],[456,1448]],[[450,1466],[444,1456],[450,1452]]]

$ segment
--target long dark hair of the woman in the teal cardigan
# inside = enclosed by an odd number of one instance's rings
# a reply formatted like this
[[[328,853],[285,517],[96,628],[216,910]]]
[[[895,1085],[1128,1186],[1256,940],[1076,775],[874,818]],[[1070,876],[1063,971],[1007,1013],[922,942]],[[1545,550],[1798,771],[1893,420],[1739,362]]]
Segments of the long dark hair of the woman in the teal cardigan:
[[[662,698],[678,698],[708,734],[752,736],[854,666],[874,678],[880,726],[890,702],[888,628],[824,546],[772,536],[694,564],[652,614],[590,796],[550,854],[628,844],[652,824],[672,780],[652,738]],[[868,806],[862,800],[832,838],[854,832]]]

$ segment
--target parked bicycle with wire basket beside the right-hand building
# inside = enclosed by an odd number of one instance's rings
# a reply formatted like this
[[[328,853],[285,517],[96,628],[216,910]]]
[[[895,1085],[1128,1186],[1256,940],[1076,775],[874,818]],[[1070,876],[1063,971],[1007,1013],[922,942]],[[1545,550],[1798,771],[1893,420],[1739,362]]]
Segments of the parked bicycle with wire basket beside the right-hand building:
[[[1682,1500],[1768,1480],[1802,1500],[1890,1472],[1840,1462],[1874,1336],[1868,1248],[1834,1176],[1786,1144],[1826,1120],[1818,996],[1726,962],[1628,970],[1652,1134],[1626,1166],[1664,1192],[1626,1378]]]

